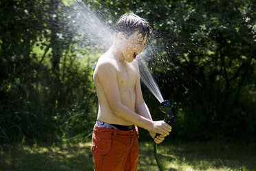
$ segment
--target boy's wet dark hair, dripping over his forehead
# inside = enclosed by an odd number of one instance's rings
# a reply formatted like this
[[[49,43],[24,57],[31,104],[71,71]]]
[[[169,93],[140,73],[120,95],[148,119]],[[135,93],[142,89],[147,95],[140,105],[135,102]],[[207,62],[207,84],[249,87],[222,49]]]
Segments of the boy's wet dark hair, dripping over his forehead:
[[[139,30],[142,37],[152,36],[152,28],[149,26],[149,22],[134,13],[123,14],[116,22],[116,32],[123,32],[127,37],[131,36],[133,32]]]

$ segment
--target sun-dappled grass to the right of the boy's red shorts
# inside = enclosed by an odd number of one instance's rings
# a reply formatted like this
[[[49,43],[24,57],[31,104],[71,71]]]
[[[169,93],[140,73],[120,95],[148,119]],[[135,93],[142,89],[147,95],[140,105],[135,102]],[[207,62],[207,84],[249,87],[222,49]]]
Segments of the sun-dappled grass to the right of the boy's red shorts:
[[[174,142],[158,145],[164,170],[256,170],[255,144]],[[148,166],[148,167],[147,167]],[[158,170],[153,142],[140,142],[139,170]]]

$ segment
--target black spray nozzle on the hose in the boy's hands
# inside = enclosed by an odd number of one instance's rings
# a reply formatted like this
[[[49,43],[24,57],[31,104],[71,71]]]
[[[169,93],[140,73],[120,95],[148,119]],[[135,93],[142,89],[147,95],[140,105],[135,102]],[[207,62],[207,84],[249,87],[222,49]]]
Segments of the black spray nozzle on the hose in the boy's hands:
[[[162,103],[160,103],[160,110],[165,114],[164,121],[169,125],[173,125],[175,118],[173,112],[171,112],[171,104],[168,100],[162,101]]]

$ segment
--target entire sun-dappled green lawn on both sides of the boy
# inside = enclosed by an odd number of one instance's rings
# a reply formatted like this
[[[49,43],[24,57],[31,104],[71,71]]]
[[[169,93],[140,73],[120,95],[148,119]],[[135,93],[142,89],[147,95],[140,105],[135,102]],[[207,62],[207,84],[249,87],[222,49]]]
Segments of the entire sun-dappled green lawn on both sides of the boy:
[[[0,170],[93,170],[90,145],[1,145]],[[256,170],[255,144],[164,142],[158,154],[164,170]],[[158,170],[152,142],[140,142],[138,170]]]

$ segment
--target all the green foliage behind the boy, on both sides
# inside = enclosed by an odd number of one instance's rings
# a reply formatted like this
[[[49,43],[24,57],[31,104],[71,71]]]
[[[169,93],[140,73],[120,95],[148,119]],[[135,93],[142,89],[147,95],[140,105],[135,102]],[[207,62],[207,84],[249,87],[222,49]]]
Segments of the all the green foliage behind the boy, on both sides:
[[[1,1],[0,143],[89,138],[98,105],[92,74],[101,52],[76,48],[76,32],[63,31],[60,11],[70,3]],[[129,11],[153,26],[150,43],[158,50],[149,68],[173,106],[172,139],[255,141],[253,1],[84,3],[111,28]],[[162,119],[156,99],[142,90],[153,119]]]

